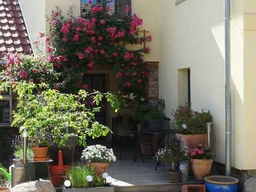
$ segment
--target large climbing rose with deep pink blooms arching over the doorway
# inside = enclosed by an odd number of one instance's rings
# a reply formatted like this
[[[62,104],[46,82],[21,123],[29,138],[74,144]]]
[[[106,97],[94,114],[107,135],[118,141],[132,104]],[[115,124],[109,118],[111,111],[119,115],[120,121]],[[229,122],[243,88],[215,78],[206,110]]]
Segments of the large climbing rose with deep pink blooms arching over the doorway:
[[[71,10],[67,20],[58,8],[49,19],[48,33],[40,33],[47,42],[49,62],[61,74],[62,85],[68,90],[83,88],[87,84],[84,74],[95,66],[110,66],[122,81],[122,93],[139,95],[149,76],[143,55],[150,48],[133,50],[127,45],[151,41],[151,36],[140,37],[138,33],[143,20],[135,14],[129,16],[129,6],[123,16],[112,14],[108,5],[91,4],[89,8],[85,18],[73,17]]]

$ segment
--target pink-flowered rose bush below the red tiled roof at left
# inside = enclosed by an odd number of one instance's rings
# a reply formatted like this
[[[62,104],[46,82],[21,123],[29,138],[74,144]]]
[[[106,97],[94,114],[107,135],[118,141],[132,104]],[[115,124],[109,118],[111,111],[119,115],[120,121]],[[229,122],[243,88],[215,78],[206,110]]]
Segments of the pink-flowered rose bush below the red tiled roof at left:
[[[44,55],[7,54],[5,70],[0,73],[1,90],[18,82],[41,84],[38,87],[58,85],[58,73]],[[3,83],[4,82],[4,83]],[[5,87],[6,88],[6,87]]]

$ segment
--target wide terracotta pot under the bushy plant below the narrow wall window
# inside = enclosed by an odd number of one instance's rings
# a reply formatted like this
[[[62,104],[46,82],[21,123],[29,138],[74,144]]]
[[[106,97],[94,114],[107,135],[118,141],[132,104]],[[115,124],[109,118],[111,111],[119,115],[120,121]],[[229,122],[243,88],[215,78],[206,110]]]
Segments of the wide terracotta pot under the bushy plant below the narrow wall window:
[[[207,147],[207,133],[205,134],[176,134],[189,148],[196,148],[198,145]]]

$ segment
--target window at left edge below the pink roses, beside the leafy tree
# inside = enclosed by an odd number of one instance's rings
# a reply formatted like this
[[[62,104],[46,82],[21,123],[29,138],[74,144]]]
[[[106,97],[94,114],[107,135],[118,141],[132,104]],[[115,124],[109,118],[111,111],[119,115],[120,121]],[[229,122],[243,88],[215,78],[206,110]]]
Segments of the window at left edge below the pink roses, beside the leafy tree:
[[[12,91],[2,93],[0,100],[0,126],[9,125],[12,113]]]

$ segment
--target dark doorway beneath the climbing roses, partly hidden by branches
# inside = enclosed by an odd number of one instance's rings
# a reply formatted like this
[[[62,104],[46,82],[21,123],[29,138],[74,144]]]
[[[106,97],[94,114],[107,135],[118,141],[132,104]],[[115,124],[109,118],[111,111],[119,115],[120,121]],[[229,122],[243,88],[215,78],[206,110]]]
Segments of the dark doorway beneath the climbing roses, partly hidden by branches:
[[[91,90],[106,92],[106,76],[105,74],[87,74],[84,81]],[[102,99],[100,104],[101,111],[95,114],[96,120],[102,125],[106,125],[106,99]]]

